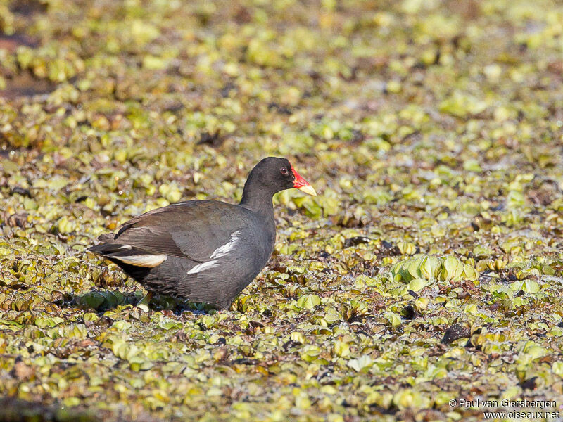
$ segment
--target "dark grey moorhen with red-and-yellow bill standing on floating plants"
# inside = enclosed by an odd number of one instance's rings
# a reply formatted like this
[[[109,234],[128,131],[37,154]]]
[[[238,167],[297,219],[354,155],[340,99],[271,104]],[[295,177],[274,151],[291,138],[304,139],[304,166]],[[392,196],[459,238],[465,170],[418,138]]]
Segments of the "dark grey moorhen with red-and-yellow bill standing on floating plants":
[[[264,158],[248,175],[239,205],[171,204],[130,219],[117,234],[102,234],[88,250],[141,283],[149,292],[143,305],[160,293],[222,309],[270,259],[276,239],[272,196],[289,188],[317,195],[286,158]]]

